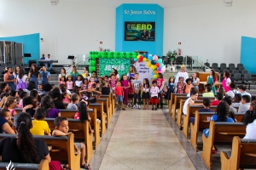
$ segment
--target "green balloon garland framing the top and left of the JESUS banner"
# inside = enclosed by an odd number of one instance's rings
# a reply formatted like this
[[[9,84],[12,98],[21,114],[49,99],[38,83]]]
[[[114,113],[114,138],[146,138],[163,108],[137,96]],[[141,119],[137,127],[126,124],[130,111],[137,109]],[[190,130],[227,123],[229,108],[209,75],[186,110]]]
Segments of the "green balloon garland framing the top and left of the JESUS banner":
[[[96,59],[133,59],[138,53],[90,51],[90,72],[96,71]]]

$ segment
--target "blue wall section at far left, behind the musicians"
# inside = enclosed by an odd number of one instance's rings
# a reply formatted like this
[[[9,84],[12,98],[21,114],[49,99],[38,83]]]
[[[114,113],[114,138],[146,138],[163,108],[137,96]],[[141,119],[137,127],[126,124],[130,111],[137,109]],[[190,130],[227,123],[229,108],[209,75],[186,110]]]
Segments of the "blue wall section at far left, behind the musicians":
[[[0,41],[20,42],[23,43],[23,54],[31,54],[30,58],[24,58],[26,64],[29,59],[36,59],[40,57],[40,34],[29,34],[16,37],[0,37]]]

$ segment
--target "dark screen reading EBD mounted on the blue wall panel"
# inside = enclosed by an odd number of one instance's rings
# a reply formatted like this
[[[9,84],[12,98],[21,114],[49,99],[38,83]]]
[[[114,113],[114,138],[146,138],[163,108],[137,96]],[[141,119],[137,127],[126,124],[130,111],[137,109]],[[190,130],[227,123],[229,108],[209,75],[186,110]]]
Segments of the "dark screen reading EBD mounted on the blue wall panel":
[[[154,41],[155,22],[125,22],[125,41]]]

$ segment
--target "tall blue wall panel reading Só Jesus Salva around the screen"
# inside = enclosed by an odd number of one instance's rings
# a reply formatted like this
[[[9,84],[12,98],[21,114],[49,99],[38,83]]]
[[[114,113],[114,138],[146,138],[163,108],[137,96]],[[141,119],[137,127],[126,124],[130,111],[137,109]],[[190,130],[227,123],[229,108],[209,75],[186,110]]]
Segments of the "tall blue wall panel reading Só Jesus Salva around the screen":
[[[130,14],[125,11],[130,11]],[[132,11],[150,10],[155,14],[131,14]],[[130,42],[125,41],[125,21],[153,21],[155,22],[155,40],[154,42]],[[158,4],[122,4],[116,8],[116,35],[115,50],[134,52],[148,51],[148,54],[163,54],[164,37],[164,8]]]

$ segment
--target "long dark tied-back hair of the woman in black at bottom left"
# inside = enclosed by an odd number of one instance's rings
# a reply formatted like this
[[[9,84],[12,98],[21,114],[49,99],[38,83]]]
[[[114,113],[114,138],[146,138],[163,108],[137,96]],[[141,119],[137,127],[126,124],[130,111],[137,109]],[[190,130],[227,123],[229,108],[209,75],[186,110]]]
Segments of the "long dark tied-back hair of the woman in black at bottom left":
[[[20,113],[15,116],[15,128],[18,132],[17,146],[20,150],[20,155],[26,163],[38,163],[38,151],[36,144],[30,133],[32,127],[32,119],[27,113]]]

